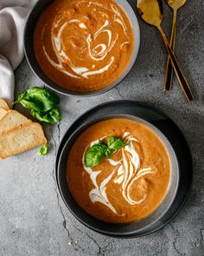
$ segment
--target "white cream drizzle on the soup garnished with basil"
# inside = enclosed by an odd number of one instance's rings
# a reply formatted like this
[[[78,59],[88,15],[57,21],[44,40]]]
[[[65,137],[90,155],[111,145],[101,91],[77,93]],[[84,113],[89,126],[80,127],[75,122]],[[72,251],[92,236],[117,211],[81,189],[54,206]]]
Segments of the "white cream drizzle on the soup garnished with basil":
[[[103,140],[105,137],[100,138],[99,140]],[[99,140],[92,141],[88,147],[92,147],[92,145],[99,143]],[[130,194],[131,186],[134,181],[137,181],[144,175],[153,174],[155,169],[153,167],[141,168],[140,156],[134,146],[134,143],[139,143],[136,137],[132,136],[128,132],[125,132],[123,140],[127,142],[127,145],[121,149],[122,159],[120,161],[114,161],[112,159],[104,160],[109,161],[109,163],[115,168],[113,169],[112,173],[109,174],[105,180],[101,182],[100,185],[97,182],[97,177],[99,174],[101,174],[101,172],[103,172],[103,170],[93,171],[91,167],[85,166],[84,159],[86,150],[82,159],[83,167],[86,170],[86,173],[89,174],[90,179],[92,180],[92,184],[94,185],[94,188],[89,192],[90,199],[93,203],[100,202],[104,204],[106,207],[109,207],[113,213],[116,214],[118,214],[118,212],[115,207],[112,206],[106,194],[108,183],[114,182],[118,185],[121,185],[121,191],[124,200],[126,200],[131,205],[139,205],[146,199],[147,194],[143,194],[143,198],[141,200],[132,200]],[[113,176],[115,176],[114,179]]]

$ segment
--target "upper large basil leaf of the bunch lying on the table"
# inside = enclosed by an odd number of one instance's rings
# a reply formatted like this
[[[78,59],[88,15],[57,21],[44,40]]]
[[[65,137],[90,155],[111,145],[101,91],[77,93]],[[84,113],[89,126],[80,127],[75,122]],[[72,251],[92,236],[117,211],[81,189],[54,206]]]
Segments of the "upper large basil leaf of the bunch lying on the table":
[[[18,95],[16,102],[20,102],[24,108],[44,112],[55,108],[60,103],[60,99],[48,89],[34,87]]]

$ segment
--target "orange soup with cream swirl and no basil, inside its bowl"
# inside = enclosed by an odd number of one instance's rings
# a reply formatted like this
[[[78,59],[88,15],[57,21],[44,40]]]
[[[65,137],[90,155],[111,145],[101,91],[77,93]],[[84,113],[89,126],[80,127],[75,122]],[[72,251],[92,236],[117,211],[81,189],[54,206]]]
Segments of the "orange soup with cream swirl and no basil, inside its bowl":
[[[112,0],[55,0],[35,27],[35,56],[48,77],[74,91],[103,89],[132,56],[131,23]]]

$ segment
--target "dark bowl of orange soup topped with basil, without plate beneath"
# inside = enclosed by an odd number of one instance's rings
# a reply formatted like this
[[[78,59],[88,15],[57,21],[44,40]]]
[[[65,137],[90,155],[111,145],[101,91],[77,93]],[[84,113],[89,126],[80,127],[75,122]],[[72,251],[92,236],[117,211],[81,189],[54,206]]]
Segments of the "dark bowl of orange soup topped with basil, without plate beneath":
[[[150,118],[123,108],[86,115],[61,152],[57,181],[73,215],[113,236],[143,232],[171,207],[179,183],[174,148]],[[97,117],[97,113],[99,116]],[[151,119],[150,119],[151,120]]]

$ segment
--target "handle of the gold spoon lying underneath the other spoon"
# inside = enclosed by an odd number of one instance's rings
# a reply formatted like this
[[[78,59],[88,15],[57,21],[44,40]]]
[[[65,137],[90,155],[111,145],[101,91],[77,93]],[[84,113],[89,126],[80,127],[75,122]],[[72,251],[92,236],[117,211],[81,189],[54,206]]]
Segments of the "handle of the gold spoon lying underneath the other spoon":
[[[170,48],[172,49],[173,52],[175,52],[176,20],[177,20],[177,10],[174,10],[173,24],[172,24],[172,30],[171,30],[170,43],[169,43]],[[164,90],[169,91],[171,89],[172,80],[173,80],[173,66],[170,62],[170,56],[168,56],[166,73],[165,73],[164,82],[163,82]]]

